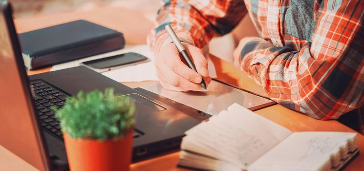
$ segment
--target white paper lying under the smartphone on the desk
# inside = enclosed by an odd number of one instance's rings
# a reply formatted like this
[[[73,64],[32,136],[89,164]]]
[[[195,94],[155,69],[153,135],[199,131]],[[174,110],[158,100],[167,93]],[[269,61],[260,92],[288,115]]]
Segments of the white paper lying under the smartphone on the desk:
[[[130,46],[127,45],[124,49],[108,52],[105,54],[100,54],[80,60],[75,60],[63,64],[54,65],[51,68],[51,71],[70,68],[79,66],[81,63],[86,61],[91,61],[95,59],[106,58],[109,56],[119,55],[128,52],[135,52],[141,55],[144,55],[150,59],[150,62],[136,64],[131,66],[126,66],[118,69],[114,69],[111,71],[103,72],[102,74],[117,81],[117,82],[141,82],[141,81],[158,81],[158,77],[156,74],[156,69],[154,66],[154,55],[150,51],[148,45],[135,45]],[[216,71],[214,67],[214,63],[208,57],[208,65],[209,65],[209,73],[212,78],[216,78]]]

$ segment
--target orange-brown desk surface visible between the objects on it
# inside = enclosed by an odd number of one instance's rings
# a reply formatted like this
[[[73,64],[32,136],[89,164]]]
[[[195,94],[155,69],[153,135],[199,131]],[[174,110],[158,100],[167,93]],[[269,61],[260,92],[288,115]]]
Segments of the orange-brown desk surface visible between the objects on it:
[[[78,11],[46,16],[16,19],[15,24],[18,33],[31,31],[46,26],[59,24],[67,21],[84,19],[92,21],[109,28],[123,32],[128,44],[144,44],[146,36],[153,27],[142,15],[135,11],[122,7],[102,7],[91,11]],[[213,57],[217,78],[221,81],[244,88],[246,90],[264,95],[264,91],[253,80],[249,79],[243,72],[235,68],[232,64]],[[49,71],[43,68],[36,71],[29,71],[28,74],[36,74]],[[124,83],[130,87],[146,85],[150,82]],[[280,105],[266,107],[256,111],[262,115],[294,132],[297,131],[344,131],[355,132],[351,128],[344,126],[337,121],[320,121],[310,118],[299,112],[287,109]],[[359,150],[364,152],[364,136],[358,134]],[[131,171],[163,170],[163,171],[182,171],[176,168],[179,152],[154,157],[131,165]],[[346,169],[347,171],[358,171],[364,168],[364,154],[360,154]],[[33,171],[34,167],[23,161],[18,156],[0,146],[0,170],[22,170]]]

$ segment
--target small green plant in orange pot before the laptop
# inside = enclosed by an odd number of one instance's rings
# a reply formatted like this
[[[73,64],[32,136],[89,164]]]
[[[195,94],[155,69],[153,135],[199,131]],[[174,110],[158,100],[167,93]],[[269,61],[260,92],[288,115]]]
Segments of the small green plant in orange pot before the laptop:
[[[66,99],[56,110],[71,171],[128,171],[134,103],[108,88]]]

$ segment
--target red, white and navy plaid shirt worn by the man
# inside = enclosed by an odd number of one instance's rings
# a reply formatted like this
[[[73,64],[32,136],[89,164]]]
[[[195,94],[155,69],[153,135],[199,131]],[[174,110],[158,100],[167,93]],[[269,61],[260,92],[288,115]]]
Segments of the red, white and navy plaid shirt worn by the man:
[[[166,24],[180,39],[202,48],[212,37],[229,33],[248,12],[260,38],[242,49],[241,69],[269,98],[323,120],[363,106],[363,0],[164,2],[148,38],[154,53],[171,42]],[[364,132],[360,111],[358,121]]]

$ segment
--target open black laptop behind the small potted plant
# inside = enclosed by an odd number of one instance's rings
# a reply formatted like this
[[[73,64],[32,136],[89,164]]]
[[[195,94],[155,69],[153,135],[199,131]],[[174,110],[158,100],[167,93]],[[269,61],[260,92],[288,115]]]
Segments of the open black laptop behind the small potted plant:
[[[28,77],[7,0],[0,0],[0,11],[0,145],[35,168],[68,170],[61,128],[50,107],[62,107],[65,98],[80,90],[113,87],[115,93],[135,101],[133,162],[178,150],[184,132],[211,117],[146,89],[132,89],[84,66]],[[260,107],[269,105],[272,103]]]

